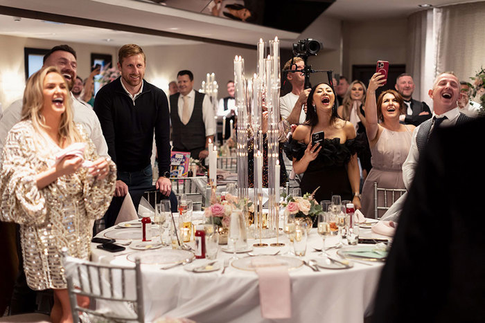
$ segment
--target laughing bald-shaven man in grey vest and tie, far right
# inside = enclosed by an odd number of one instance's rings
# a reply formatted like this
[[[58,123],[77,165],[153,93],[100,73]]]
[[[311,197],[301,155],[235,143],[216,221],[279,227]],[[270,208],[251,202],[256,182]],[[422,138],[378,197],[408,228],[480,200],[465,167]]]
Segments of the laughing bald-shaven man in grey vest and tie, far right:
[[[460,82],[453,72],[441,73],[436,77],[433,89],[428,91],[433,100],[432,118],[421,123],[414,129],[411,147],[403,164],[403,181],[406,190],[409,190],[418,165],[419,155],[424,151],[427,140],[433,129],[437,127],[450,127],[472,120],[459,112],[458,100],[460,98]],[[397,221],[407,194],[401,196],[389,210],[382,216],[382,220]]]

